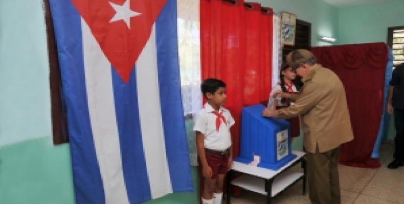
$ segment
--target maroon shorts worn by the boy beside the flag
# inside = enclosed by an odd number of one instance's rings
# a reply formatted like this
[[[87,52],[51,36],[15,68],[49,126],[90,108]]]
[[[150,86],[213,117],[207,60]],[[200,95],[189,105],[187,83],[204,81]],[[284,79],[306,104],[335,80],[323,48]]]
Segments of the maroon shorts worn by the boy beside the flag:
[[[226,174],[229,170],[229,153],[220,155],[220,153],[210,150],[205,150],[206,161],[212,169],[212,179],[216,179],[218,174]]]

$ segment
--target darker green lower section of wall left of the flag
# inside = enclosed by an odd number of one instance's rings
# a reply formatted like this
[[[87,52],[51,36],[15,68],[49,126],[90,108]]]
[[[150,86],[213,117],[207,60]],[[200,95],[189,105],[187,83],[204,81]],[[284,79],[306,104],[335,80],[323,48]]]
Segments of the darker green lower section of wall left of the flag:
[[[43,137],[1,147],[0,181],[0,203],[74,203],[69,145]]]

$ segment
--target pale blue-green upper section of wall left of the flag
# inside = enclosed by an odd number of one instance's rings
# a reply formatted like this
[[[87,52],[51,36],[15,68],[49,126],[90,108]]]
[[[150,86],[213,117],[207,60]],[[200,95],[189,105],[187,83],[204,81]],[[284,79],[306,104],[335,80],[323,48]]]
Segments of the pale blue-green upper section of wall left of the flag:
[[[0,146],[51,134],[43,19],[40,0],[0,1]]]

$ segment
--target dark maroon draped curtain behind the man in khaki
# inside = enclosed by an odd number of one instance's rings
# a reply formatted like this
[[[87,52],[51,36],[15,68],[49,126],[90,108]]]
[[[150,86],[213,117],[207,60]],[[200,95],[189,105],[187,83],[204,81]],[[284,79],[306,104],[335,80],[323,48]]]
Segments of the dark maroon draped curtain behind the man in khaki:
[[[333,70],[345,86],[354,140],[341,147],[340,163],[378,168],[372,149],[379,129],[383,106],[388,47],[366,43],[313,47],[319,63]]]

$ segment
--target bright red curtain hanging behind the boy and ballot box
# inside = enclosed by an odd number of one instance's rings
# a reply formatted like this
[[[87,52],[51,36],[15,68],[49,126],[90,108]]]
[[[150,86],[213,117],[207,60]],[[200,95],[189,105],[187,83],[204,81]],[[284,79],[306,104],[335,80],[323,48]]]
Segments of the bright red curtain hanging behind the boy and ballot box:
[[[202,78],[227,84],[228,108],[236,120],[232,127],[233,156],[239,155],[241,109],[267,100],[272,79],[272,10],[243,1],[200,1]]]

